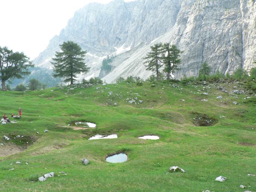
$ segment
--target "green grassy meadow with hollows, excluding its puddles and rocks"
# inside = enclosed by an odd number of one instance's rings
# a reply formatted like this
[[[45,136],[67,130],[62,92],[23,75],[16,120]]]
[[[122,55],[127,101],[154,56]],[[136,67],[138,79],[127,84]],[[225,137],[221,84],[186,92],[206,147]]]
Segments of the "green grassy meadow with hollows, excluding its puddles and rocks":
[[[221,85],[228,91],[238,86]],[[10,117],[22,108],[18,123],[0,125],[0,191],[256,192],[256,177],[247,176],[256,174],[256,97],[217,86],[144,82],[0,92],[0,114]],[[136,104],[128,103],[132,99]],[[216,124],[195,126],[194,118],[203,114]],[[73,120],[97,127],[73,130],[67,126]],[[88,140],[95,134],[118,138]],[[148,134],[160,139],[138,139]],[[24,137],[14,139],[17,135]],[[127,162],[106,162],[121,151]],[[90,164],[83,165],[82,158]],[[186,173],[167,173],[171,166]],[[55,176],[37,181],[49,172]],[[214,181],[218,176],[227,181]]]

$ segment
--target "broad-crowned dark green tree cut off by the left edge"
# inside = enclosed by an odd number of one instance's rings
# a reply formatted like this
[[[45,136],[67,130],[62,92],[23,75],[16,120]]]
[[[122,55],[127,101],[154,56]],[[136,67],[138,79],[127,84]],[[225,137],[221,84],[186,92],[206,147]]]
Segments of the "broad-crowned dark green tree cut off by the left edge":
[[[6,90],[5,82],[14,78],[21,79],[30,74],[29,67],[34,65],[23,52],[13,52],[7,47],[0,47],[0,79],[2,90]]]

